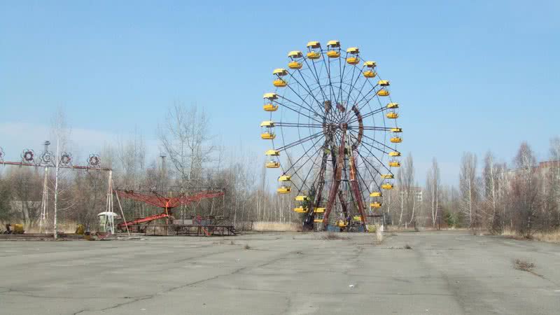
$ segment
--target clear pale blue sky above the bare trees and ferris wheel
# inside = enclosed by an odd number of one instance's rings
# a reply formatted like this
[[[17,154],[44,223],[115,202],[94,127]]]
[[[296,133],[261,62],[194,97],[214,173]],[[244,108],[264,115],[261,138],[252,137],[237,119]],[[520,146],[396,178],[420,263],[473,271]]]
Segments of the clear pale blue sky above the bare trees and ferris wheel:
[[[420,3],[423,2],[423,3]],[[403,153],[446,183],[463,151],[547,158],[560,134],[558,1],[0,1],[0,146],[40,149],[64,106],[80,148],[197,104],[225,144],[260,154],[262,93],[307,41],[358,46],[391,80]],[[235,149],[233,149],[235,150]]]

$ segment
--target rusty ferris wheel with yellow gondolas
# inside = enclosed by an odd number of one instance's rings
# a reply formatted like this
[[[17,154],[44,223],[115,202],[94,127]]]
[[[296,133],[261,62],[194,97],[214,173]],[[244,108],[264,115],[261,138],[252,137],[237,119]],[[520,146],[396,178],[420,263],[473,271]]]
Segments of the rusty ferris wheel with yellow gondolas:
[[[363,230],[380,215],[383,191],[400,167],[399,104],[374,61],[339,41],[307,43],[288,53],[287,69],[272,71],[264,94],[270,141],[266,167],[279,169],[280,194],[295,197],[310,230]]]

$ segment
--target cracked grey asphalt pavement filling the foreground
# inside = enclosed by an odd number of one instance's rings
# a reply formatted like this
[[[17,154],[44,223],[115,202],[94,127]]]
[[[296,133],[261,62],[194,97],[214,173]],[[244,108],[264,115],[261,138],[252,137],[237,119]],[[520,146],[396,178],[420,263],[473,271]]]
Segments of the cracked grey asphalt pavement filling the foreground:
[[[560,312],[558,245],[461,231],[342,236],[0,241],[0,314]],[[514,269],[516,259],[536,267]]]

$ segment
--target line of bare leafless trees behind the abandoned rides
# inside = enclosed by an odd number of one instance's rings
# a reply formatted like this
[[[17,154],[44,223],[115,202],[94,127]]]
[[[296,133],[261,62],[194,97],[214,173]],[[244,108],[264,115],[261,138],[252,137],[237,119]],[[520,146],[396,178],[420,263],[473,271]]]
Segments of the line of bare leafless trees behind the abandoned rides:
[[[99,155],[103,166],[113,169],[115,188],[175,194],[221,189],[225,192],[223,198],[174,209],[174,216],[216,216],[238,228],[251,221],[302,221],[300,214],[292,211],[293,194],[278,195],[275,187],[270,187],[260,155],[220,144],[203,110],[177,104],[169,109],[165,121],[158,127],[158,158],[146,157],[146,142],[139,132],[102,148]],[[71,142],[64,113],[57,113],[52,125],[59,144],[57,153],[69,151]],[[531,147],[523,143],[510,163],[498,162],[489,152],[479,164],[475,154],[464,153],[458,182],[449,185],[442,183],[434,158],[426,182],[419,185],[414,160],[407,155],[395,173],[395,189],[384,192],[380,211],[385,224],[496,233],[514,230],[522,235],[559,228],[559,137],[550,141],[549,162],[538,163]],[[45,198],[44,180],[42,167],[4,167],[0,172],[0,221],[23,223],[27,230],[36,230]],[[54,218],[58,218],[63,227],[69,225],[66,230],[76,223],[95,230],[97,214],[106,209],[108,188],[107,172],[48,172],[47,228],[53,229]],[[133,200],[120,203],[127,219],[161,211]]]

